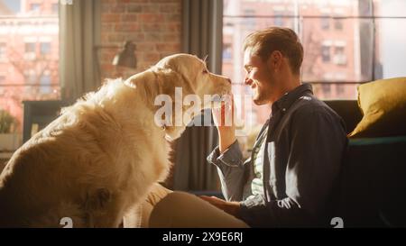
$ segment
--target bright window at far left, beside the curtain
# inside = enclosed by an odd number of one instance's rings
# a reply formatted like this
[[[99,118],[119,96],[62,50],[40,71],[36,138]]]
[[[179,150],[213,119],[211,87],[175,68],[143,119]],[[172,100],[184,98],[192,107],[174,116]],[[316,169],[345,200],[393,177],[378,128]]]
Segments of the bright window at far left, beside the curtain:
[[[60,99],[58,5],[0,0],[0,110],[14,116],[18,132],[23,101]]]

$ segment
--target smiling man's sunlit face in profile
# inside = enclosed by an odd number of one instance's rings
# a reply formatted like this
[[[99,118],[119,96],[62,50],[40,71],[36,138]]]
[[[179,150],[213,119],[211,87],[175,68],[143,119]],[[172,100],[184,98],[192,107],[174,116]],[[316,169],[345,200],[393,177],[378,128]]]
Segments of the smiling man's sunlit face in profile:
[[[254,104],[265,105],[271,102],[274,87],[272,69],[259,56],[251,54],[251,49],[244,54],[245,85],[254,91]]]

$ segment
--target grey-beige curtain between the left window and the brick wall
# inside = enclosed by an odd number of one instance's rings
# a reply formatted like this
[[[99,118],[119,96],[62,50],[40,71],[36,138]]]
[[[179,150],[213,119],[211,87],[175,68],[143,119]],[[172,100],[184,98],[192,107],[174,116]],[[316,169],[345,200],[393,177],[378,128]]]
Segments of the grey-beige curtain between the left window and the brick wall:
[[[65,1],[66,2],[66,1]],[[63,100],[76,100],[100,86],[97,44],[98,0],[60,2],[60,87]]]

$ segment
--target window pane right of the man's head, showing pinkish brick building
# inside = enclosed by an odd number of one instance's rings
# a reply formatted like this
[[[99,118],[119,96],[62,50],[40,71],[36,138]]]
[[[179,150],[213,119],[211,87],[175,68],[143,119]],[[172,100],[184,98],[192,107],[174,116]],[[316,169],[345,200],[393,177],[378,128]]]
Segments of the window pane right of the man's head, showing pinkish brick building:
[[[301,25],[305,52],[302,80],[307,82],[372,80],[374,48],[372,20],[343,18],[339,19],[342,29],[328,30],[323,29],[321,20],[304,19]]]

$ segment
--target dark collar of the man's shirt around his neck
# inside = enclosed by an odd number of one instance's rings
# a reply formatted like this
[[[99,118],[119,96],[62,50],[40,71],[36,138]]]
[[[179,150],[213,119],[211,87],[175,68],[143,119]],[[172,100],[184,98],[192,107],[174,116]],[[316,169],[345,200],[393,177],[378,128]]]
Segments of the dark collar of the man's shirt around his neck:
[[[313,95],[313,88],[308,83],[302,84],[290,92],[285,93],[285,95],[274,102],[272,104],[272,115],[279,110],[286,112],[298,98],[305,95]]]

